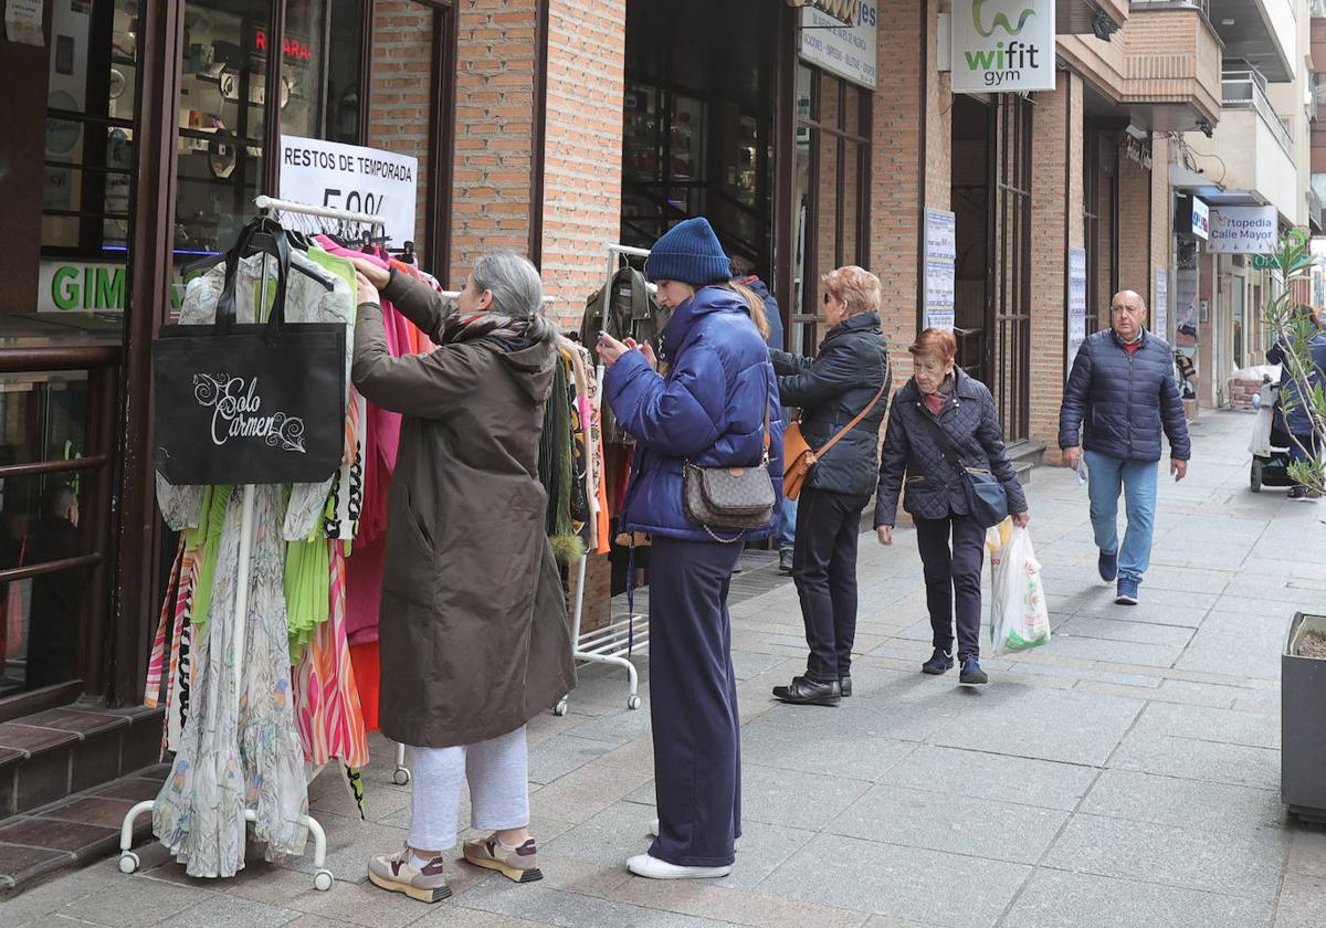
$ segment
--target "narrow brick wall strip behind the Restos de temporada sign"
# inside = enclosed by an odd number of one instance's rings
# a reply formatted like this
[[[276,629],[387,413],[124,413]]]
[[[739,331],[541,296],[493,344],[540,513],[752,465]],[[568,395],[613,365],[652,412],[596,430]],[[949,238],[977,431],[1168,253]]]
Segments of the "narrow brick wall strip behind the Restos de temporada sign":
[[[432,21],[436,13],[414,0],[378,0],[373,8],[373,106],[369,145],[419,159],[415,245],[424,243],[428,190],[428,76],[432,73]],[[438,114],[446,118],[446,114]],[[395,243],[400,245],[403,243]]]

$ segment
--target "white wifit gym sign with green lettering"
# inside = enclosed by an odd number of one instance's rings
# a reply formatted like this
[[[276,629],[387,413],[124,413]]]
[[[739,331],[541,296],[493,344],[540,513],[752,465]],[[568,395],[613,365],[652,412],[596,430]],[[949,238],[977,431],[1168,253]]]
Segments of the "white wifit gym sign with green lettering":
[[[953,93],[1054,90],[1054,0],[953,0]]]

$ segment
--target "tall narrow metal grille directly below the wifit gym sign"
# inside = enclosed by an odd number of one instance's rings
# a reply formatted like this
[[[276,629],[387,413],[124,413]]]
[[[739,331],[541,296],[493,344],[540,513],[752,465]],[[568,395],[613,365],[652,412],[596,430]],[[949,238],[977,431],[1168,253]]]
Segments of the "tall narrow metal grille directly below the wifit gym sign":
[[[1032,102],[1004,95],[996,103],[994,209],[991,235],[993,298],[989,305],[991,390],[1009,443],[1028,437],[1032,363]]]

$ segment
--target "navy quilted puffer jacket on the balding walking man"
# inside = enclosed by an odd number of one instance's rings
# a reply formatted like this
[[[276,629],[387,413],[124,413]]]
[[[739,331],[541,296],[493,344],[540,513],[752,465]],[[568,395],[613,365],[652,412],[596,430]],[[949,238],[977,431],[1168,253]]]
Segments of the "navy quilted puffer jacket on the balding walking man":
[[[1059,447],[1081,444],[1120,461],[1158,461],[1162,431],[1170,439],[1170,456],[1188,460],[1188,420],[1170,346],[1143,331],[1142,347],[1128,354],[1114,329],[1087,337],[1063,387]]]

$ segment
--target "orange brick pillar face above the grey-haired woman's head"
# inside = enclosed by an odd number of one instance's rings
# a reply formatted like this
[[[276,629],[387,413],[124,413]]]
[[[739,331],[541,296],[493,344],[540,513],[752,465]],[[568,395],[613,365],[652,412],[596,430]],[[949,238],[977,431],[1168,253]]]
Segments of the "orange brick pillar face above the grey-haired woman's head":
[[[451,280],[495,248],[529,245],[534,0],[459,4]]]

